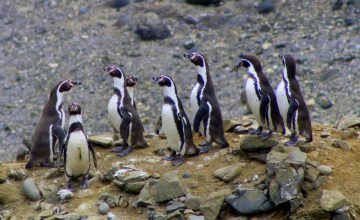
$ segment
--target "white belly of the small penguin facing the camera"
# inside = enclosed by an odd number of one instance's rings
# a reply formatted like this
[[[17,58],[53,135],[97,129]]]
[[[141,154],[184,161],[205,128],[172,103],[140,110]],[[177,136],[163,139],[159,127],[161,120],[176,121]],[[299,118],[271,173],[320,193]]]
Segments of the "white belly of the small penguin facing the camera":
[[[66,146],[66,174],[70,177],[86,175],[90,169],[90,154],[86,136],[82,131],[69,134]]]

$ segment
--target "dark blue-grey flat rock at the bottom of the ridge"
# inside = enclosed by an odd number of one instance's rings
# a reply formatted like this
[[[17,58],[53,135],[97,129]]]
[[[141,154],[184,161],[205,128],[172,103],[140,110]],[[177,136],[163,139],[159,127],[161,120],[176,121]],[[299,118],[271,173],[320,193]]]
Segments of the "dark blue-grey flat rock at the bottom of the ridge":
[[[264,193],[256,189],[245,189],[238,195],[230,195],[225,201],[240,214],[256,214],[270,211],[274,203]]]

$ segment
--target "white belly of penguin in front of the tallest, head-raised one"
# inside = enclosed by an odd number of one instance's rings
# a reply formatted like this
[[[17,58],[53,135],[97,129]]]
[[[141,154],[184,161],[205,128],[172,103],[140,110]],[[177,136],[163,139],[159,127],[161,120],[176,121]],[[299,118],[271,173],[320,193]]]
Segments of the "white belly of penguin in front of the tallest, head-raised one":
[[[176,127],[174,114],[171,105],[164,104],[161,111],[162,124],[165,132],[166,139],[171,149],[180,151],[180,137]]]

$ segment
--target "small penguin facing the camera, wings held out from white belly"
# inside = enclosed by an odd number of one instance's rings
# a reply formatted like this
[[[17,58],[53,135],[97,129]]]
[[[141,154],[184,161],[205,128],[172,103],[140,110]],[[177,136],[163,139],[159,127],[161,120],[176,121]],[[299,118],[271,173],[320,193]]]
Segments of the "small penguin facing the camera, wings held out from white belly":
[[[80,188],[87,189],[89,188],[90,153],[95,168],[97,168],[96,155],[83,128],[81,106],[78,103],[72,103],[69,105],[68,111],[70,115],[69,128],[62,151],[64,153],[64,171],[67,188],[73,191],[73,180],[82,178]]]

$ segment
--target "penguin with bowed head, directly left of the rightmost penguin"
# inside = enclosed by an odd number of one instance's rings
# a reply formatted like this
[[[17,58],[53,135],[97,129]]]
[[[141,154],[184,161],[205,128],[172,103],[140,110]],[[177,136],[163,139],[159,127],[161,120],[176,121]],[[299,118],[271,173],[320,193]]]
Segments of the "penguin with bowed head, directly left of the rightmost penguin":
[[[272,135],[273,131],[285,134],[283,119],[280,115],[276,101],[276,95],[266,75],[262,71],[260,61],[252,55],[241,55],[238,67],[248,69],[248,79],[246,81],[246,98],[259,127],[254,134],[266,139]],[[262,129],[269,130],[262,133]]]

